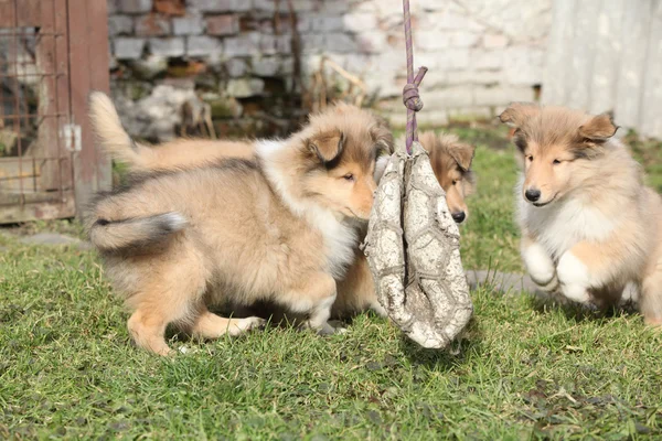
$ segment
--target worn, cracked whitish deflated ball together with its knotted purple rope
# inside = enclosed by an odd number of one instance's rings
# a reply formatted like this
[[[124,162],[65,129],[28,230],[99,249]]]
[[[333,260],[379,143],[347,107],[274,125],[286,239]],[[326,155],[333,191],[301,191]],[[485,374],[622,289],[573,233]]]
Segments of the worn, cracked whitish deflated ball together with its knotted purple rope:
[[[420,346],[442,348],[465,329],[473,306],[460,258],[460,233],[416,133],[415,112],[423,108],[418,85],[427,67],[414,77],[409,1],[403,0],[403,7],[406,151],[393,153],[380,182],[364,252],[391,320]]]

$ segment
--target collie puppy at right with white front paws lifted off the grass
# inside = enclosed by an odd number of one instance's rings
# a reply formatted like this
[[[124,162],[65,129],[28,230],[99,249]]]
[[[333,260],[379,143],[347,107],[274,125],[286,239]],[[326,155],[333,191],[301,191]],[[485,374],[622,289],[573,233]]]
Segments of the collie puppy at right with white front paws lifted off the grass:
[[[547,291],[598,306],[638,291],[650,324],[662,324],[662,201],[613,138],[608,115],[512,104],[523,163],[517,185],[522,257]]]

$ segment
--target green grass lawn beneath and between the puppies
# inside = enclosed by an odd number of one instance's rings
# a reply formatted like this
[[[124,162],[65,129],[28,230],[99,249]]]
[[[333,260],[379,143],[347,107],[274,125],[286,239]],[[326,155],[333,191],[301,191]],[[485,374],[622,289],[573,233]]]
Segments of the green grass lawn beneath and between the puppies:
[[[502,130],[456,130],[478,144],[465,263],[521,270],[512,149]],[[659,152],[637,150],[644,163]],[[658,162],[647,163],[653,184]],[[78,232],[23,229],[44,228]],[[163,359],[131,346],[94,252],[9,234],[0,252],[1,439],[662,437],[662,335],[636,314],[585,315],[479,290],[451,352],[419,349],[366,314],[331,337],[269,329],[173,338],[188,352]]]

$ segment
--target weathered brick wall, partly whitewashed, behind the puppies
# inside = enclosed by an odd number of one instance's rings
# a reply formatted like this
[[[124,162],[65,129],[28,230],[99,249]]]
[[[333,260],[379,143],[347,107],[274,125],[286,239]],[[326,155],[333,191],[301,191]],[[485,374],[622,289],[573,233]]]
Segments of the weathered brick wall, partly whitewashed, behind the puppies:
[[[325,55],[361,77],[375,107],[402,123],[401,0],[291,2],[296,26],[287,0],[108,0],[114,94],[125,120],[141,119],[130,129],[170,138],[179,116],[149,106],[170,109],[194,97],[212,105],[222,132],[255,130],[260,112],[287,119],[299,103],[293,32],[305,82]],[[430,68],[421,123],[491,117],[510,100],[534,99],[551,0],[412,0],[412,9],[415,61]]]

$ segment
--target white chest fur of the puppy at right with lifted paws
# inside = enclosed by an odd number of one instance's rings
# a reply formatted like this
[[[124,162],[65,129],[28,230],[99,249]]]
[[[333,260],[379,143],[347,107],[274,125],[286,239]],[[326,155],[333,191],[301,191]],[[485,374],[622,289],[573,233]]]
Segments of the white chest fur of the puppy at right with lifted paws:
[[[579,241],[608,239],[618,226],[618,218],[606,215],[590,202],[569,197],[535,207],[519,194],[522,224],[556,258]]]

